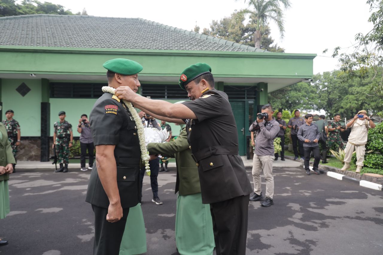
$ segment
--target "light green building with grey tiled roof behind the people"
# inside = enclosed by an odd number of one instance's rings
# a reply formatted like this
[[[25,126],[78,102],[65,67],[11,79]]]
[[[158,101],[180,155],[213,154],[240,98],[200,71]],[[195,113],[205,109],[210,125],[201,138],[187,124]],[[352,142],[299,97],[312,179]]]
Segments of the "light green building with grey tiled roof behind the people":
[[[249,123],[267,103],[267,93],[310,79],[315,56],[266,52],[140,18],[1,17],[0,116],[15,111],[23,144],[19,160],[47,161],[58,112],[65,111],[74,126],[82,113],[90,113],[107,85],[106,60],[139,62],[144,67],[139,93],[171,102],[188,100],[178,87],[180,72],[206,62],[216,88],[229,95],[245,155]],[[172,126],[174,135],[177,128]]]

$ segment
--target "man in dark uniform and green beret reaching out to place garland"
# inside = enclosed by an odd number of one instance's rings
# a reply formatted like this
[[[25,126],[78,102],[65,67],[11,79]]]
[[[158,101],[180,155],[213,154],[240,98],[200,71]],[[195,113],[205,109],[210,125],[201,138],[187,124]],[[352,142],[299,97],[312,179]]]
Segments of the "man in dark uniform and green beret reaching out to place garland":
[[[244,255],[252,187],[238,154],[237,126],[228,95],[214,89],[211,68],[206,63],[183,70],[179,85],[187,90],[191,101],[172,104],[151,100],[127,87],[119,87],[116,95],[154,118],[187,123],[202,203],[210,204],[217,255]]]

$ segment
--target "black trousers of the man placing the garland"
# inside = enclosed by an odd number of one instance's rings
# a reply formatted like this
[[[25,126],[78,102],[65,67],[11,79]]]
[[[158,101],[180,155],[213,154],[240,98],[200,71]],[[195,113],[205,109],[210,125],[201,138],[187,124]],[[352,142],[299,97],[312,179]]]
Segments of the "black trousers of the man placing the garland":
[[[245,255],[249,197],[239,196],[211,203],[217,255]]]

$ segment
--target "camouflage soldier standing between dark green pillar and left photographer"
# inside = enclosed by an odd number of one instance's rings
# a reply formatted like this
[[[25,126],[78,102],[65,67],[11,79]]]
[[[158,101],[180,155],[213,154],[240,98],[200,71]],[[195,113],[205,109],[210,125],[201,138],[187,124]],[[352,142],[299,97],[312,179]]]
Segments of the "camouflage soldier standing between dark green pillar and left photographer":
[[[59,112],[60,121],[56,121],[53,125],[54,144],[52,148],[56,144],[57,161],[60,163],[60,168],[54,171],[55,173],[68,172],[69,148],[72,147],[73,133],[72,125],[65,120],[65,116],[65,111]]]

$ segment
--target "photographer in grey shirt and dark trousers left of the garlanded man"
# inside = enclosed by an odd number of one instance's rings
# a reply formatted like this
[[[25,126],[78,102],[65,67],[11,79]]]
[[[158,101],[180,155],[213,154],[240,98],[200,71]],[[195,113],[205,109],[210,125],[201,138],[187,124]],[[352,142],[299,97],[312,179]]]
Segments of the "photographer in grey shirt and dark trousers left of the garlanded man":
[[[92,131],[90,130],[90,123],[88,120],[87,114],[82,114],[81,119],[79,119],[79,126],[77,126],[77,132],[80,133],[80,162],[81,162],[81,171],[87,171],[88,169],[92,170],[93,167],[93,137]],[[85,156],[87,155],[87,149],[89,154],[89,167],[85,167]]]

